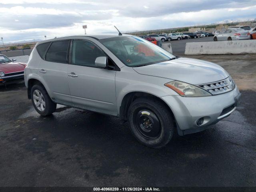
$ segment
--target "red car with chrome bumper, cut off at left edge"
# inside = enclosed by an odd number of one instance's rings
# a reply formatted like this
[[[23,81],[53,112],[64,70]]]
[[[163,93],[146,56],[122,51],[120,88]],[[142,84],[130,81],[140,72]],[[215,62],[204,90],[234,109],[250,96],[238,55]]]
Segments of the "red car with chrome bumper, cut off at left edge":
[[[26,64],[14,61],[0,54],[0,86],[24,81]]]

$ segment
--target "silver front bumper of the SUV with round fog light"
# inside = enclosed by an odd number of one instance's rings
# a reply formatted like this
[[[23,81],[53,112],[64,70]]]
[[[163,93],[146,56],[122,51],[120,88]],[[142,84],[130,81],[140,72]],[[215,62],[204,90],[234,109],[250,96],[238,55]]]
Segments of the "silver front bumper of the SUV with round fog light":
[[[162,99],[172,109],[178,134],[185,135],[206,130],[229,116],[239,103],[240,92],[237,86],[224,94],[208,97],[163,96]],[[198,126],[197,120],[204,118]]]

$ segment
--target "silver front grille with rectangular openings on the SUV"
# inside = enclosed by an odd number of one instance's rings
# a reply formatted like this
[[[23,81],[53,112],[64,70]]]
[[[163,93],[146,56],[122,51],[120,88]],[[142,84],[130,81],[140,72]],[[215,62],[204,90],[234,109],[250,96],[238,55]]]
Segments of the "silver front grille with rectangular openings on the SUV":
[[[233,90],[234,82],[228,77],[221,81],[207,83],[207,84],[200,84],[198,86],[210,92],[213,95],[217,95],[217,94],[222,94],[222,93]]]

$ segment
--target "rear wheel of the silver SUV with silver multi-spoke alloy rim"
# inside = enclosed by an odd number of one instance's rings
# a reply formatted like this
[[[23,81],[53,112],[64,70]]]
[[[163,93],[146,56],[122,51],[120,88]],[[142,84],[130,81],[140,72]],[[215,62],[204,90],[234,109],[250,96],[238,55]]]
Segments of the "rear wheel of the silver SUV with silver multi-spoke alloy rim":
[[[50,115],[56,110],[56,103],[52,101],[45,88],[40,84],[32,86],[31,100],[36,111],[42,116]]]

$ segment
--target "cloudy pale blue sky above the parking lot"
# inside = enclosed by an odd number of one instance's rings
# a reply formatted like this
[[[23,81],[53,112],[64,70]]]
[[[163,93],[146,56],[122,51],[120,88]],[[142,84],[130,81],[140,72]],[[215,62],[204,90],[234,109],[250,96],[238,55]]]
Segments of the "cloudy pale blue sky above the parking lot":
[[[256,0],[0,0],[5,42],[256,18]]]

